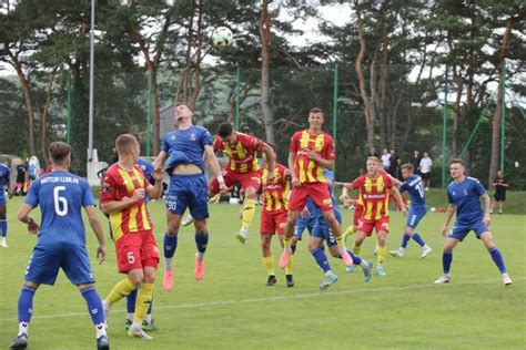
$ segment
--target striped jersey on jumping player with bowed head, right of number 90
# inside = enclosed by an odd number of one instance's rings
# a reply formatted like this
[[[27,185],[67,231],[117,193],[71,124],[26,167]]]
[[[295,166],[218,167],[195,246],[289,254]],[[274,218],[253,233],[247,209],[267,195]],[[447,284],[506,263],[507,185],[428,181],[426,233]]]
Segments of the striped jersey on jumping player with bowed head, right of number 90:
[[[235,137],[235,145],[223,142],[221,136],[215,138],[214,152],[222,151],[229,157],[229,164],[224,168],[235,173],[257,172],[257,152],[263,151],[265,143],[261,138],[237,132]]]

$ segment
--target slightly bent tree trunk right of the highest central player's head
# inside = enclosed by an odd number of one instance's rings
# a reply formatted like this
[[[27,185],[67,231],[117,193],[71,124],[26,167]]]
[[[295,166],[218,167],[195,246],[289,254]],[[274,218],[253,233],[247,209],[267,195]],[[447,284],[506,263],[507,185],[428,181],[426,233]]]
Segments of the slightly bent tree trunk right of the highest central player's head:
[[[358,24],[358,40],[360,40],[360,52],[356,56],[355,68],[356,75],[360,84],[360,95],[364,102],[365,107],[365,126],[367,128],[367,146],[374,147],[374,113],[372,112],[371,101],[368,100],[367,92],[365,91],[365,76],[363,71],[363,63],[365,59],[365,37],[364,37],[364,22],[360,12],[360,1],[354,1],[356,9],[357,24]],[[373,68],[372,68],[373,69]]]

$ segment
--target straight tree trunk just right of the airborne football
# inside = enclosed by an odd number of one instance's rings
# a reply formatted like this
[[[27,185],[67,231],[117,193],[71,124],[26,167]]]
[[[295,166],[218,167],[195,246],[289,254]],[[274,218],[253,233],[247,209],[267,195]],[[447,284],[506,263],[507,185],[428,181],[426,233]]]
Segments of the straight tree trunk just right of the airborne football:
[[[261,113],[263,114],[263,124],[265,125],[266,142],[275,145],[274,140],[274,117],[269,105],[270,99],[270,52],[269,43],[271,40],[271,18],[269,16],[269,0],[263,0],[260,17],[260,38],[261,38]]]

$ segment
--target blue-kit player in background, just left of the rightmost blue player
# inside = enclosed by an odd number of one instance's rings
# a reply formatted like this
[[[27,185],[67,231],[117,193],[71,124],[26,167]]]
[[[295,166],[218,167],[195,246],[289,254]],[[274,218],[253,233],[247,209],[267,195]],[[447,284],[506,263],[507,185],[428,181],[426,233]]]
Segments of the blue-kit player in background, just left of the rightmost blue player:
[[[421,258],[425,258],[432,249],[425,244],[421,235],[415,231],[416,226],[427,213],[424,183],[419,175],[415,175],[414,167],[409,163],[402,165],[402,177],[404,183],[399,186],[398,192],[407,191],[411,197],[411,208],[407,215],[404,236],[402,236],[402,245],[398,250],[391,250],[390,254],[395,257],[403,257],[407,243],[413,238],[422,247]]]

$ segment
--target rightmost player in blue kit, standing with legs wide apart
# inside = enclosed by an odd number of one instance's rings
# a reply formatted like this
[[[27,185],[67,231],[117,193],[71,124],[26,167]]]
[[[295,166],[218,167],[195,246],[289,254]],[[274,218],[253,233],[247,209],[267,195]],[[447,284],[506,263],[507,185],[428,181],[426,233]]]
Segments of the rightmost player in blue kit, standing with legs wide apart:
[[[466,163],[463,159],[453,159],[449,163],[449,173],[453,182],[447,185],[447,200],[449,205],[447,206],[446,222],[442,228],[442,234],[446,236],[442,255],[443,275],[435,280],[435,284],[449,282],[453,249],[459,241],[466,238],[471,230],[474,230],[477,238],[486,246],[493,261],[500,271],[504,285],[512,285],[513,281],[506,272],[500,250],[495,246],[492,233],[487,228],[492,222],[489,217],[492,199],[478,179],[466,176],[465,172]],[[481,197],[484,199],[484,212],[481,207]],[[453,224],[452,229],[447,231],[455,209],[456,222]]]

